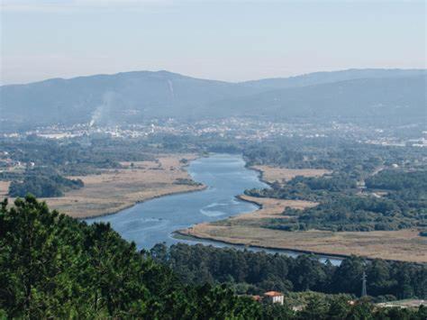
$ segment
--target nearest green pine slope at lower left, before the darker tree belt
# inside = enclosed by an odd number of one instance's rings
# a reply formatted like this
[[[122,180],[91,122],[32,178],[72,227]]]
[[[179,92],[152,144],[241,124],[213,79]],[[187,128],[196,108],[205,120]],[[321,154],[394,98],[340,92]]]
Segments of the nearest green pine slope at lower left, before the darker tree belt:
[[[211,253],[213,261],[214,252],[203,255]],[[187,281],[184,265],[176,265],[175,273],[162,259],[159,250],[137,251],[109,224],[78,222],[32,196],[18,198],[14,206],[5,200],[0,206],[0,318],[421,320],[427,315],[425,307],[376,308],[366,299],[349,304],[347,296],[311,293],[296,311],[288,302],[279,306],[238,296],[219,285],[224,279],[206,281],[200,274],[198,283]],[[317,272],[310,264],[301,271],[302,280]]]

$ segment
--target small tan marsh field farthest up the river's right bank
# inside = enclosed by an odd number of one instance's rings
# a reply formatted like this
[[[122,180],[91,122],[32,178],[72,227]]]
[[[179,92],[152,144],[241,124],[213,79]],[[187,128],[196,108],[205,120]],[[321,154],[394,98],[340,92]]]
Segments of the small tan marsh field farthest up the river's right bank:
[[[290,180],[296,176],[304,177],[321,177],[325,174],[332,173],[327,169],[286,169],[271,166],[252,166],[252,169],[259,170],[261,177],[268,183],[275,181],[282,182],[283,180]]]

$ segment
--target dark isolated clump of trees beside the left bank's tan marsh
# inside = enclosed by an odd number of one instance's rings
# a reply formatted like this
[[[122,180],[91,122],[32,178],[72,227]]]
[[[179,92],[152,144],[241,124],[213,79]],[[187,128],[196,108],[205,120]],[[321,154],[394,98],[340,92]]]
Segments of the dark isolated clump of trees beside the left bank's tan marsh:
[[[23,181],[14,180],[9,187],[9,196],[60,197],[65,191],[83,187],[81,179],[70,179],[50,169],[26,169]]]

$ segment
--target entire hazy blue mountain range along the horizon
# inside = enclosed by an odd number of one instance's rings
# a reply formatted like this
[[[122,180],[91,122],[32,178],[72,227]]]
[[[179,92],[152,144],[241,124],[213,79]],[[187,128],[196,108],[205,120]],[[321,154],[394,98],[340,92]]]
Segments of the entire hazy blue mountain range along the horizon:
[[[426,120],[425,69],[350,69],[241,83],[134,71],[0,87],[0,125],[120,124],[228,116]],[[2,124],[3,123],[3,124]]]

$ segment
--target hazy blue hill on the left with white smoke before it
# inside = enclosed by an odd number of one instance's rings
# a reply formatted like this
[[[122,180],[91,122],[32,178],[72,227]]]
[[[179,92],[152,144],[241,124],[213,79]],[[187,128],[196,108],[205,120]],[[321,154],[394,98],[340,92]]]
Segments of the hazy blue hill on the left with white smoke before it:
[[[115,123],[193,114],[217,99],[253,90],[168,71],[135,71],[71,79],[54,78],[0,87],[0,117],[14,123]]]

